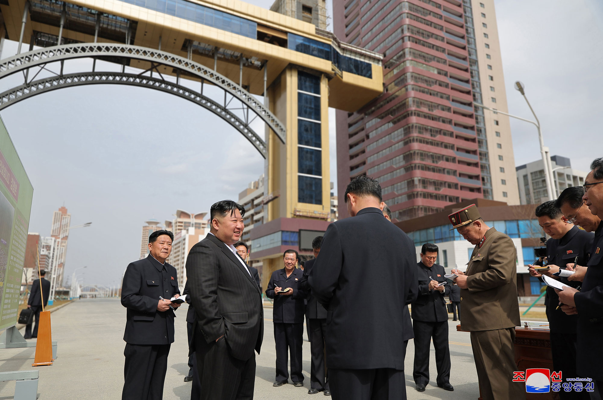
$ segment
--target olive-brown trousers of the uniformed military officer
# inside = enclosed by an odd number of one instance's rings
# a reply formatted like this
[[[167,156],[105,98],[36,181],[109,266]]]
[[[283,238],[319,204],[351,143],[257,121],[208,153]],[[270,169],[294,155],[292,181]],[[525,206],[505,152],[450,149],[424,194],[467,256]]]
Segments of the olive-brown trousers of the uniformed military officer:
[[[470,337],[482,399],[524,400],[525,383],[513,382],[515,328],[473,331]]]

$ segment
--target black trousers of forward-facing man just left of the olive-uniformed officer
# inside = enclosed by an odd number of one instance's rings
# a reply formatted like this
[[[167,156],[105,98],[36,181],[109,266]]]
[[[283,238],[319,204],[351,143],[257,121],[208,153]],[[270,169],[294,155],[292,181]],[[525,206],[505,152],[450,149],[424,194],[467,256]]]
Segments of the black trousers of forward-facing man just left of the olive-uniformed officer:
[[[435,366],[438,370],[436,383],[443,385],[450,379],[450,348],[448,347],[448,321],[412,321],[414,331],[415,359],[412,377],[415,384],[427,386],[429,383],[429,348],[434,341]]]

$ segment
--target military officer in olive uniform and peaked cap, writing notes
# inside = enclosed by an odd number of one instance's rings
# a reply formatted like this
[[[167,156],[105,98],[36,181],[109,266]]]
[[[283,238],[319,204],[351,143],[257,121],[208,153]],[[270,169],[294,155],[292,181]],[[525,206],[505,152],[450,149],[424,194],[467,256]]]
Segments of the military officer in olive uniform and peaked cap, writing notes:
[[[525,384],[513,382],[517,369],[513,341],[520,324],[513,240],[488,227],[475,204],[448,219],[452,229],[475,245],[467,271],[453,269],[452,273],[458,275],[461,328],[470,331],[482,399],[525,399]]]

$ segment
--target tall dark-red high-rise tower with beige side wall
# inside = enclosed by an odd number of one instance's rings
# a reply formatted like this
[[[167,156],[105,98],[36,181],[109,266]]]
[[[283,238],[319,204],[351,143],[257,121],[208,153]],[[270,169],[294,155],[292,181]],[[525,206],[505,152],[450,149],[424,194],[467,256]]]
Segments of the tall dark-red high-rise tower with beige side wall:
[[[385,57],[383,95],[356,113],[336,111],[340,193],[358,175],[377,178],[398,220],[470,198],[519,203],[508,120],[485,119],[473,106],[484,101],[485,78],[506,110],[493,1],[333,2],[333,27],[344,42]],[[482,67],[482,58],[493,61]],[[490,133],[490,125],[500,129]],[[345,203],[339,207],[346,216]]]

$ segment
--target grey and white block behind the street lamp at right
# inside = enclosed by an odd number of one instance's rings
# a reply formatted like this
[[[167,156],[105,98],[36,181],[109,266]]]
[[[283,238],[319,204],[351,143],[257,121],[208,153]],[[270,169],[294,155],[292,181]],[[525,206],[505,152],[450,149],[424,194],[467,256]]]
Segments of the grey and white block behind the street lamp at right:
[[[540,159],[516,167],[521,204],[542,204],[549,199],[544,164]],[[551,166],[555,180],[555,198],[567,187],[583,185],[584,178],[588,175],[587,172],[573,169],[570,159],[561,155],[551,157]]]

